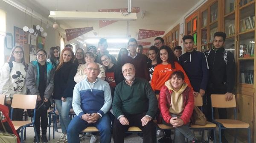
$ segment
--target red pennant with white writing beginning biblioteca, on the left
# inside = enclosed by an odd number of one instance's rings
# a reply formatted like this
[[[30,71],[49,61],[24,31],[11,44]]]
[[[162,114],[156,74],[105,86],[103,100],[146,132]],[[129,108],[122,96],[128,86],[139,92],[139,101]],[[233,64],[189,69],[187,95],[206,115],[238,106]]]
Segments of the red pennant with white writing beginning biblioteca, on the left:
[[[71,39],[74,39],[78,36],[86,34],[87,32],[92,30],[93,30],[93,27],[66,29],[65,31],[66,31],[67,41],[70,41]]]

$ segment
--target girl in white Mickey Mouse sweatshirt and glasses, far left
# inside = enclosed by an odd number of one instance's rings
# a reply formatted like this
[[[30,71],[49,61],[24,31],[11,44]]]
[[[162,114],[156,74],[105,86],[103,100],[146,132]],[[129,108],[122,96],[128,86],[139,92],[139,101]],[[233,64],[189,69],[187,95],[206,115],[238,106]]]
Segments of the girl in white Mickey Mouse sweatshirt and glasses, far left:
[[[26,94],[25,77],[28,64],[25,62],[24,50],[21,46],[12,48],[11,56],[2,67],[0,78],[0,94],[6,95],[6,106],[11,111],[14,94]],[[24,109],[14,109],[13,121],[22,121]],[[10,116],[9,112],[9,116]]]

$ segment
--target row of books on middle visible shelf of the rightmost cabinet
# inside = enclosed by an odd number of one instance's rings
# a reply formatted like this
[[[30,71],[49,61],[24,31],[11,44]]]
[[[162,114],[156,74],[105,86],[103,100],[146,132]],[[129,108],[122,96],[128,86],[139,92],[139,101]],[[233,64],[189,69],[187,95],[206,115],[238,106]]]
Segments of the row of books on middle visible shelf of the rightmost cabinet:
[[[250,56],[254,56],[254,43],[250,43],[250,44],[241,44],[239,49],[239,56],[240,57],[244,57],[244,58],[248,58]]]

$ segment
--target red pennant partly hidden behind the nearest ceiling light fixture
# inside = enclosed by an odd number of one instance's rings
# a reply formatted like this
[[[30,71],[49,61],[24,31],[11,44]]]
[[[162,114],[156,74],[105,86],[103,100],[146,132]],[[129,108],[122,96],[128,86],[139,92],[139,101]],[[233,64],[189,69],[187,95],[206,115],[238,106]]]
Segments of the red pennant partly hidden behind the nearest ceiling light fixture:
[[[99,12],[128,12],[128,8],[116,8],[116,9],[99,9]],[[134,7],[131,8],[131,12],[140,12],[140,7]],[[114,22],[117,22],[116,20],[99,20],[99,28],[105,27],[107,25],[110,25]]]

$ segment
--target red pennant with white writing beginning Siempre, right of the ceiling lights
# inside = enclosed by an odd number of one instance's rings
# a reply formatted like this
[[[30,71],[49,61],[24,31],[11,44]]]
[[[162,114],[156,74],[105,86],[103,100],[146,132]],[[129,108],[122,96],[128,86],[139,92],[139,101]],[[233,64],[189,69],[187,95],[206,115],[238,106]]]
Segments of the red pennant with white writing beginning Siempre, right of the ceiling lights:
[[[139,29],[138,40],[163,35],[164,31]]]

